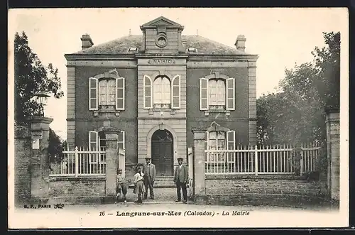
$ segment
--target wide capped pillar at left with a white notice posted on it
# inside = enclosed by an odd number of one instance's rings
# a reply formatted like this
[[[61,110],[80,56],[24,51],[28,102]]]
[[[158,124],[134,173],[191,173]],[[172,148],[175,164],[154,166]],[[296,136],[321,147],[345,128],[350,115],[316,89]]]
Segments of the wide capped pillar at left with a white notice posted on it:
[[[34,202],[47,202],[49,197],[49,124],[53,121],[45,116],[33,116],[31,123],[31,198]]]

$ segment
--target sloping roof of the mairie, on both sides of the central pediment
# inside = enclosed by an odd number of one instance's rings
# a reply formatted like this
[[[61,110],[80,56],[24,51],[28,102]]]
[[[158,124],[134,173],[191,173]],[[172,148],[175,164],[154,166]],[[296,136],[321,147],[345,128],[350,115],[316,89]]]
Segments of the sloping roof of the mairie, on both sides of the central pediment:
[[[197,55],[248,55],[244,51],[236,50],[236,48],[217,43],[200,35],[182,35],[181,38],[185,51],[188,48],[196,48],[197,52],[194,54]],[[139,48],[142,42],[142,35],[127,35],[80,50],[74,54],[133,54],[134,52],[130,52],[129,48]]]

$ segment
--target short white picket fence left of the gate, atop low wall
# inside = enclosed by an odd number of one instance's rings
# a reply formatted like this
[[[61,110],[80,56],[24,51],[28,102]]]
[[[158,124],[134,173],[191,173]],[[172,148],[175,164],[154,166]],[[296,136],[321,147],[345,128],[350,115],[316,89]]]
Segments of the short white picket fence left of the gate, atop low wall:
[[[63,151],[64,158],[60,163],[51,163],[50,175],[75,176],[106,175],[105,148],[89,151],[88,148],[70,148]]]

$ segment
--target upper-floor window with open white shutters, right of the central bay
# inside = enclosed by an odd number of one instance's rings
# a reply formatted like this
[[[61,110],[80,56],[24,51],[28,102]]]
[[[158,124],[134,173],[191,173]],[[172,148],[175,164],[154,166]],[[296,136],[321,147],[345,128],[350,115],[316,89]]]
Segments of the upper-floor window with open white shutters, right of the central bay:
[[[200,110],[235,109],[234,78],[200,78]]]

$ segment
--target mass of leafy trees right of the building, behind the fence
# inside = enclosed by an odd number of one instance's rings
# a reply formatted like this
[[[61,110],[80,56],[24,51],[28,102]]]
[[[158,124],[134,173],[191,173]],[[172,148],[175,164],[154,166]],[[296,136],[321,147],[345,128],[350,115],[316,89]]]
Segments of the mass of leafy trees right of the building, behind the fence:
[[[326,46],[312,62],[285,70],[282,92],[256,101],[261,144],[305,143],[326,138],[326,108],[339,108],[340,33],[323,33]]]

